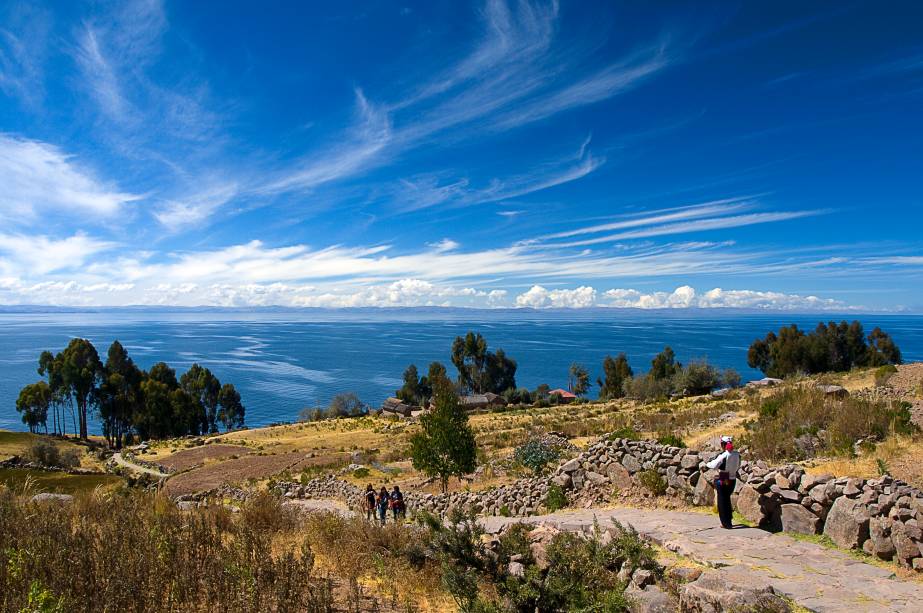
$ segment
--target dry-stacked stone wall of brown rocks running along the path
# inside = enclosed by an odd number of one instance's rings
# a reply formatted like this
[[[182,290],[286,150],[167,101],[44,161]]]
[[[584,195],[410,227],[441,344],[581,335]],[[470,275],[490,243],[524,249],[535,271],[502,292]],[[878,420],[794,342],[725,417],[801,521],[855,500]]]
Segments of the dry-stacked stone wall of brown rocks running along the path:
[[[481,515],[527,517],[541,513],[556,485],[570,496],[589,488],[613,488],[642,471],[656,471],[668,496],[693,505],[714,504],[714,453],[654,441],[603,438],[560,464],[550,475],[520,479],[492,490],[405,494],[408,508],[445,514],[462,508]],[[337,498],[362,506],[360,488],[333,476],[307,484],[280,483],[287,497]],[[923,492],[897,479],[808,475],[800,466],[769,466],[744,460],[732,497],[738,512],[772,531],[824,534],[838,546],[862,549],[885,560],[923,570]]]

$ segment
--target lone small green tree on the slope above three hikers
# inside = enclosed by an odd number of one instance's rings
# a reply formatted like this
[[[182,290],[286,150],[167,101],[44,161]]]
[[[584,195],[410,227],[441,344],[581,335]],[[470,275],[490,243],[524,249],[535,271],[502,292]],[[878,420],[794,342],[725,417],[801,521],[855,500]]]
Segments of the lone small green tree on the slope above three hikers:
[[[420,432],[410,438],[410,455],[414,468],[439,477],[445,493],[449,477],[461,477],[477,466],[477,443],[448,379],[433,382],[433,398],[433,410],[420,416]]]

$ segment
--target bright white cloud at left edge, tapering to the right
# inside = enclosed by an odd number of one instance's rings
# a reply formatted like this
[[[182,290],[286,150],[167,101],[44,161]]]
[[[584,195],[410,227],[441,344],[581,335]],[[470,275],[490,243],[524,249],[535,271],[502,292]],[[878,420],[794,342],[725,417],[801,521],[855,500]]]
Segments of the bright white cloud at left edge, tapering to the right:
[[[0,134],[0,185],[0,217],[9,222],[30,221],[43,211],[92,221],[141,198],[98,180],[53,145],[5,134]]]

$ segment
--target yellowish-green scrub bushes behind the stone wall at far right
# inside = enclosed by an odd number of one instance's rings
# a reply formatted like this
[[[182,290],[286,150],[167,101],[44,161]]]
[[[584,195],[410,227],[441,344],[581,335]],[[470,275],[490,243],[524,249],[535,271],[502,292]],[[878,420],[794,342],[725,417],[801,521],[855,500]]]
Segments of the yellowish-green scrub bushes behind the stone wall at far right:
[[[917,430],[909,405],[900,401],[830,398],[817,389],[791,386],[751,402],[757,418],[746,424],[745,444],[767,460],[850,454],[860,439]]]

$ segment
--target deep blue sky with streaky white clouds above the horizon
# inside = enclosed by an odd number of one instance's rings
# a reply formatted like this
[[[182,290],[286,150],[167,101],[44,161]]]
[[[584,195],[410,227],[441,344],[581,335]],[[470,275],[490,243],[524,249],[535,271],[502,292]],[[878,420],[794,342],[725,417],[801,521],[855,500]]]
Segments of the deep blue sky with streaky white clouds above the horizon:
[[[923,311],[917,2],[0,3],[0,304]]]

